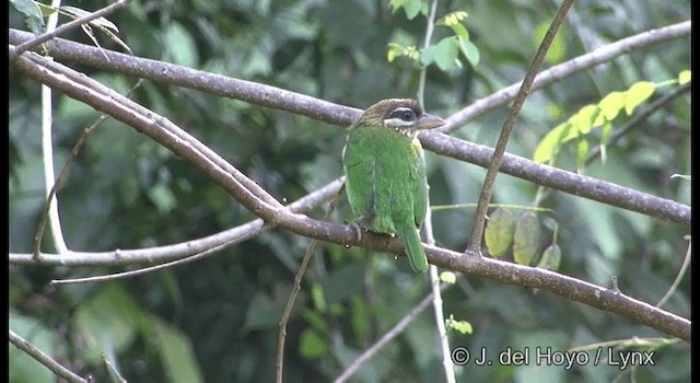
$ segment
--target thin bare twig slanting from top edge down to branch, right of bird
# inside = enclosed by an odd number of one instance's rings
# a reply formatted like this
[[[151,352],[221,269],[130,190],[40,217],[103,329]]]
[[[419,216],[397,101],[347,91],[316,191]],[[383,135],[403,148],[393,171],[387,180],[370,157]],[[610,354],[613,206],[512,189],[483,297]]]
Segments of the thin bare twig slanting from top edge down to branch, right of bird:
[[[563,22],[572,4],[573,0],[564,0],[561,3],[561,7],[559,8],[555,20],[551,22],[551,25],[549,25],[549,30],[547,30],[547,34],[545,35],[545,38],[542,38],[542,43],[537,49],[537,54],[535,55],[535,58],[533,59],[533,62],[527,70],[527,74],[525,74],[525,79],[523,80],[521,89],[517,91],[517,95],[513,100],[513,105],[511,106],[511,111],[505,118],[505,123],[503,123],[501,136],[495,143],[493,156],[491,158],[491,164],[489,165],[489,170],[486,174],[486,179],[483,181],[481,195],[479,196],[479,205],[477,206],[477,210],[474,213],[474,225],[471,227],[471,239],[469,241],[468,248],[478,254],[481,254],[481,235],[483,234],[486,211],[489,207],[489,202],[491,201],[491,194],[493,193],[493,187],[495,186],[495,177],[499,174],[501,162],[503,161],[505,147],[508,146],[508,141],[511,138],[511,134],[515,129],[515,121],[517,120],[517,116],[521,112],[521,108],[523,107],[523,104],[525,104],[525,98],[530,92],[530,86],[535,81],[535,76],[537,76],[539,68],[545,60],[545,56],[547,55],[547,50],[549,50],[549,46],[557,35],[557,31],[559,31],[559,26]]]

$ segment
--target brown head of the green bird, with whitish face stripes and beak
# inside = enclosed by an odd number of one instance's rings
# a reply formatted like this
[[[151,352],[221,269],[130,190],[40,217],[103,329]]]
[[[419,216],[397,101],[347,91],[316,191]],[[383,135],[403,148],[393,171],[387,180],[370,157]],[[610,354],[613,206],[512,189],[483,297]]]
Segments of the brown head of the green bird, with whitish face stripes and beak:
[[[386,127],[415,137],[420,130],[441,127],[445,121],[423,113],[416,100],[389,98],[368,107],[355,125]]]

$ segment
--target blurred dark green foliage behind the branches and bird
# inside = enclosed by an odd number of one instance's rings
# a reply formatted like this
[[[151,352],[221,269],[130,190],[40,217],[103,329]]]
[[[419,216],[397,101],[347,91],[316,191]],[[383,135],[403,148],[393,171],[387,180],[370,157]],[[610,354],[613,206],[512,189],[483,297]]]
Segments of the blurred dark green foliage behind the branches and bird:
[[[106,1],[66,1],[96,10]],[[448,116],[524,77],[542,28],[558,2],[442,1],[438,14],[466,11],[464,24],[480,62],[428,71],[425,106]],[[546,66],[560,63],[643,31],[688,20],[688,1],[578,1]],[[388,1],[132,1],[109,16],[136,56],[174,62],[280,86],[334,103],[366,107],[386,97],[415,96],[419,68],[399,57],[387,63],[387,45],[422,46],[425,18],[392,13]],[[61,18],[61,22],[66,22]],[[26,30],[10,7],[10,25]],[[451,34],[435,30],[434,42]],[[537,37],[539,36],[539,37]],[[80,32],[63,37],[91,44]],[[104,47],[119,50],[108,39]],[[525,104],[509,152],[532,158],[549,129],[582,106],[632,83],[674,79],[690,63],[689,38],[619,57],[534,92]],[[71,63],[126,93],[136,79]],[[9,241],[31,252],[43,207],[39,86],[10,67]],[[661,90],[660,94],[665,93]],[[279,199],[292,201],[342,174],[345,132],[306,117],[190,90],[145,83],[133,98],[184,127]],[[54,141],[60,169],[97,113],[54,96]],[[492,147],[506,107],[483,115],[455,136]],[[623,124],[617,121],[616,124]],[[574,170],[574,149],[558,166]],[[475,204],[486,171],[428,153],[433,205]],[[690,202],[690,97],[669,103],[635,126],[607,161],[586,174]],[[537,186],[501,175],[493,202],[528,206]],[[68,245],[110,251],[166,245],[206,236],[250,220],[194,166],[117,121],[89,139],[59,192]],[[553,193],[542,204],[556,211],[560,272],[600,286],[614,276],[627,294],[655,304],[684,260],[687,230],[638,213]],[[323,217],[322,209],[311,214]],[[463,249],[472,208],[433,213],[438,244]],[[345,200],[332,216],[349,219]],[[545,229],[547,231],[548,229]],[[551,230],[551,228],[549,228]],[[550,235],[551,237],[551,235]],[[51,241],[44,249],[52,251]],[[281,230],[192,264],[108,283],[48,287],[54,278],[114,268],[10,267],[10,328],[83,374],[104,381],[103,358],[133,382],[270,381],[278,322],[308,240]],[[323,244],[305,276],[288,328],[285,381],[324,382],[337,376],[429,292],[427,277],[407,263]],[[664,309],[689,317],[690,275]],[[565,350],[595,343],[661,334],[630,321],[546,292],[459,277],[444,295],[446,316],[468,321],[471,335],[451,333],[451,347],[551,346]],[[432,314],[421,314],[354,375],[358,382],[440,381],[443,376]],[[54,381],[50,373],[10,347],[13,382]],[[688,381],[687,344],[656,350],[656,365],[505,367],[467,364],[459,381]]]

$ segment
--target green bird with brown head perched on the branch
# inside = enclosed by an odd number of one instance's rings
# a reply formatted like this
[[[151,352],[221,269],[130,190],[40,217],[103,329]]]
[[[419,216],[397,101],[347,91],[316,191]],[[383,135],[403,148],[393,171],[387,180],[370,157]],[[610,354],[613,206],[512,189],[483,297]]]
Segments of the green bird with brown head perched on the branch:
[[[425,161],[418,132],[444,125],[415,100],[390,98],[370,106],[348,128],[342,150],[346,193],[354,223],[398,235],[411,268],[428,270],[420,229],[428,208]]]

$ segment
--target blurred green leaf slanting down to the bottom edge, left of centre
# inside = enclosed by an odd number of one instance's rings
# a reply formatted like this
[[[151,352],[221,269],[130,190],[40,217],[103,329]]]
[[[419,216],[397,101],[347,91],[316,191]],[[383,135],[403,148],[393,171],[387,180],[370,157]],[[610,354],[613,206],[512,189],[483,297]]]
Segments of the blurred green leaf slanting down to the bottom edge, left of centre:
[[[161,353],[163,369],[168,382],[189,383],[203,382],[205,379],[197,364],[195,351],[189,338],[170,324],[151,317],[156,349]]]

